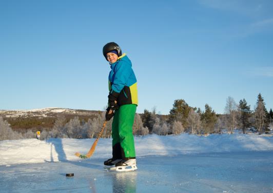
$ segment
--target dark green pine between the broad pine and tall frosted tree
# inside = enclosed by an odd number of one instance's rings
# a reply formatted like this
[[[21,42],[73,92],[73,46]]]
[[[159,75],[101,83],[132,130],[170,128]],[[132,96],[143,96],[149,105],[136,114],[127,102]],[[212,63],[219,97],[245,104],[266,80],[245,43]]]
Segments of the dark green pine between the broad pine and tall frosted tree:
[[[208,104],[205,104],[205,112],[201,115],[202,125],[206,133],[213,133],[214,125],[217,121],[216,113],[209,107]]]

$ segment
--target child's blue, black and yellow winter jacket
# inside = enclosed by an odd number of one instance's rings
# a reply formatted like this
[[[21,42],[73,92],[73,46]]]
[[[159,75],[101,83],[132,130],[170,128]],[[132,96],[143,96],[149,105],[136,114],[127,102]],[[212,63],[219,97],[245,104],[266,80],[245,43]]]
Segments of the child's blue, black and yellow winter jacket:
[[[119,93],[118,104],[138,105],[138,87],[130,59],[123,54],[111,64],[109,91]]]

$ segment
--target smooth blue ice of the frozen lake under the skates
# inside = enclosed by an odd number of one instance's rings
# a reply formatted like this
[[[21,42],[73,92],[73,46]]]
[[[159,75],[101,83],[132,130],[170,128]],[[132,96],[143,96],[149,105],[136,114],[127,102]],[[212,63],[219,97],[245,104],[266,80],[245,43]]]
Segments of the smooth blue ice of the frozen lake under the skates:
[[[0,166],[1,192],[273,192],[273,151],[149,155],[138,170],[105,159]],[[65,177],[74,173],[74,177]]]

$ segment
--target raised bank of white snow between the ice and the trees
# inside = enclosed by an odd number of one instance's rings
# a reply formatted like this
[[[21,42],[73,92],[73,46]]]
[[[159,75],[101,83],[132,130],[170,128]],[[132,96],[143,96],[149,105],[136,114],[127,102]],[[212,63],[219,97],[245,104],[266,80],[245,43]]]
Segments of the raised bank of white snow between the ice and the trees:
[[[47,141],[21,139],[0,142],[0,165],[80,160],[74,153],[86,153],[94,139],[51,138]],[[136,156],[197,154],[210,152],[273,151],[273,137],[222,134],[147,135],[135,137]],[[111,139],[100,139],[94,158],[111,157]]]

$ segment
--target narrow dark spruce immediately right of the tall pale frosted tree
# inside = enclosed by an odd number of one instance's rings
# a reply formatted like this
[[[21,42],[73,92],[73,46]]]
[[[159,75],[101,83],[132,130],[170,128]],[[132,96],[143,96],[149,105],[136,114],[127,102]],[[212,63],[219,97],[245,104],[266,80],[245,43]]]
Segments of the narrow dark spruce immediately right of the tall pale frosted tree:
[[[247,105],[245,99],[239,101],[240,126],[245,134],[246,129],[250,126],[249,118],[251,116],[250,105]]]

